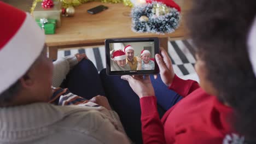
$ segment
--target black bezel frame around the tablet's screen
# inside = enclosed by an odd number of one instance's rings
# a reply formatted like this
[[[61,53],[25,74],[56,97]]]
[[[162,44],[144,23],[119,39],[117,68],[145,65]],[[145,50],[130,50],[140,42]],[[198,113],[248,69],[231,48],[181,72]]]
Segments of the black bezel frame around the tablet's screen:
[[[147,42],[154,41],[154,52],[159,53],[159,39],[158,38],[122,38],[122,39],[106,39],[105,40],[105,50],[106,50],[106,70],[108,75],[148,75],[148,74],[158,74],[159,67],[155,62],[154,70],[125,70],[125,71],[110,71],[110,43],[135,43],[135,42]],[[155,58],[155,56],[154,56]]]

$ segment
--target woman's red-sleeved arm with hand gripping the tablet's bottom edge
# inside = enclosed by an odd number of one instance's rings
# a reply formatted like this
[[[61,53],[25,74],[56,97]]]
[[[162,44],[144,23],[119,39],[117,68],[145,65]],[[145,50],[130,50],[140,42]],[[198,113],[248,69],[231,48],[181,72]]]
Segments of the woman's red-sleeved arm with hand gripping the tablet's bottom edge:
[[[165,143],[164,128],[156,107],[156,97],[149,75],[121,76],[140,98],[143,143]]]

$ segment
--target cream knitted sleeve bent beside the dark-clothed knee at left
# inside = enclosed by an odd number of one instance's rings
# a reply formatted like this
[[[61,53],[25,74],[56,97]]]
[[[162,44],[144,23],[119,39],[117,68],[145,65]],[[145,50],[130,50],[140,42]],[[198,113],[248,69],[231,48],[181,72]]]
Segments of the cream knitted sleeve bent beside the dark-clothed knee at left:
[[[77,63],[78,61],[75,56],[66,56],[53,62],[53,86],[59,87],[62,81],[66,78],[69,70],[71,70]]]

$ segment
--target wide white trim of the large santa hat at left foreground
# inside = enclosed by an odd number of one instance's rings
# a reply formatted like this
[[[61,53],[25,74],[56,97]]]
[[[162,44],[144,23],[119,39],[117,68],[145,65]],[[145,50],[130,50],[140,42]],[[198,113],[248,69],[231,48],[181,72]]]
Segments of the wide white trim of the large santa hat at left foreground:
[[[0,93],[13,85],[31,67],[43,50],[45,35],[30,14],[0,50]]]

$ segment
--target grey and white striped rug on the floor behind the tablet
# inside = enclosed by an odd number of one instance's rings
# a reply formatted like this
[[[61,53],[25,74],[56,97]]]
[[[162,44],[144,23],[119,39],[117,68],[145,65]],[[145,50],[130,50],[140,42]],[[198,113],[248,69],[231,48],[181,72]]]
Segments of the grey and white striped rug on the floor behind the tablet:
[[[74,55],[75,53],[86,53],[98,71],[106,68],[104,46],[59,50],[58,58]],[[171,56],[173,69],[178,76],[195,73],[195,46],[190,39],[168,41],[168,54]]]

